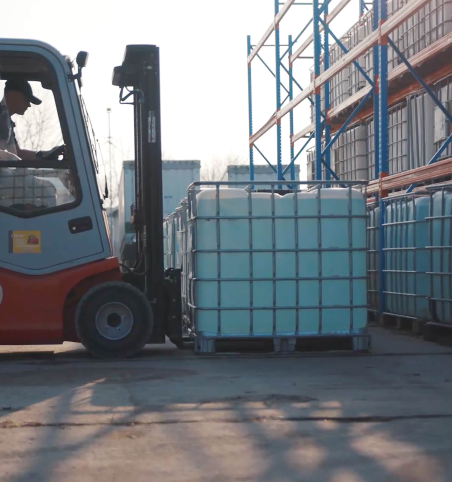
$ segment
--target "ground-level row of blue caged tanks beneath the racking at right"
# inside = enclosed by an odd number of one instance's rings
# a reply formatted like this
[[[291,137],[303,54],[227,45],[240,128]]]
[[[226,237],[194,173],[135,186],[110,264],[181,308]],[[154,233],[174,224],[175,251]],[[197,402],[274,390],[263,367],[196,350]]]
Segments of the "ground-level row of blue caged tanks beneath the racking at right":
[[[452,324],[452,186],[382,200],[384,312]],[[368,206],[368,303],[379,306],[380,205]]]

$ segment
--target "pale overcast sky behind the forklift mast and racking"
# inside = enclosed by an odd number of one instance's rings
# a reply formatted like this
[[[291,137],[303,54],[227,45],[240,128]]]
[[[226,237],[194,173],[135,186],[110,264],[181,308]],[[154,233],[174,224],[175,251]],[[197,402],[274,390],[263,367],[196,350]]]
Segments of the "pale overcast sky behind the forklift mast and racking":
[[[336,3],[333,0],[332,6]],[[252,36],[253,44],[262,37],[272,21],[273,0],[21,0],[8,2],[4,10],[8,15],[3,17],[3,37],[43,40],[71,58],[80,50],[89,52],[82,94],[106,162],[107,107],[112,109],[113,156],[118,169],[123,158],[133,157],[132,106],[120,106],[119,89],[111,85],[112,69],[120,65],[125,45],[131,43],[160,47],[166,158],[199,159],[201,165],[228,155],[248,158],[246,36]],[[292,6],[280,25],[281,43],[287,43],[289,34],[295,37],[311,16],[312,7]],[[332,27],[340,36],[357,20],[358,1],[352,0]],[[273,44],[274,37],[267,43]],[[262,56],[275,67],[273,48],[264,49]],[[303,87],[309,83],[312,63],[312,59],[299,59],[295,64],[294,76]],[[276,91],[274,78],[257,58],[252,65],[253,126],[257,130],[275,110]],[[281,79],[288,86],[287,77]],[[294,118],[295,132],[309,123],[307,101],[297,107]],[[302,142],[298,141],[298,147]],[[289,116],[282,121],[282,143],[283,163],[287,163]],[[257,145],[276,163],[276,128]],[[306,156],[299,159],[300,174],[305,177]],[[255,153],[255,162],[265,161]]]

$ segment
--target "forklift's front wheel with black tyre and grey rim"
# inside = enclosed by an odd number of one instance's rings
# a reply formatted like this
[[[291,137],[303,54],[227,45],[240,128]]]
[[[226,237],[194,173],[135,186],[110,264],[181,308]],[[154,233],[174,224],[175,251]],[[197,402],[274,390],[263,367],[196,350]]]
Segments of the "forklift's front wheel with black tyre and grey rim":
[[[98,284],[80,299],[75,328],[80,343],[96,358],[129,358],[148,343],[154,317],[146,296],[131,284]]]

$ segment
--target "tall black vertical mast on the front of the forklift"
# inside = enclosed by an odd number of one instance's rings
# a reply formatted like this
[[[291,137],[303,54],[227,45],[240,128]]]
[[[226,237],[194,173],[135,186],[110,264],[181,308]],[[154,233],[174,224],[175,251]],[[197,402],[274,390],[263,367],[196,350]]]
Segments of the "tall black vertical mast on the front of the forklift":
[[[160,140],[159,47],[127,45],[122,65],[114,67],[112,84],[120,87],[120,103],[133,105],[135,137],[136,263],[124,279],[151,302],[152,342],[165,340],[165,274],[163,268],[162,161]],[[124,90],[126,94],[124,94]],[[133,102],[125,102],[132,97]],[[127,209],[127,207],[126,207]]]

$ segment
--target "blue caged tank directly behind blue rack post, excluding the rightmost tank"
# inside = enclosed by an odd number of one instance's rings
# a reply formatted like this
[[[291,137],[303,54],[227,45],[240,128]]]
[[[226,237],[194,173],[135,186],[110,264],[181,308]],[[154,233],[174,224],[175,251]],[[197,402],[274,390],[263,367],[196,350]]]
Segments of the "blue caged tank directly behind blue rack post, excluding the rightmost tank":
[[[428,195],[394,196],[368,206],[369,307],[379,309],[380,209],[383,206],[384,312],[429,318]]]

